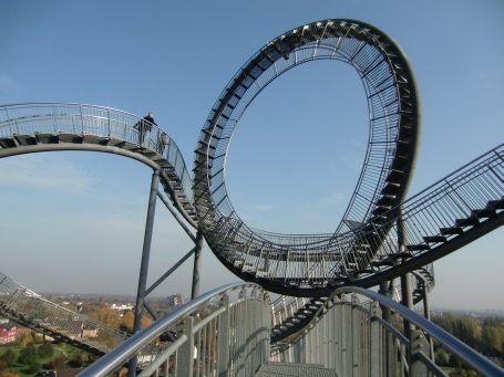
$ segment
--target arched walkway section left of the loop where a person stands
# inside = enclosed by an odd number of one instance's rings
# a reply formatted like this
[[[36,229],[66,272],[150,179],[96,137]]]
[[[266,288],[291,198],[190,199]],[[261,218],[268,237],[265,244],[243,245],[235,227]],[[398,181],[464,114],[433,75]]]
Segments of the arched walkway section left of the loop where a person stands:
[[[175,142],[156,125],[145,135],[141,117],[110,107],[72,103],[0,106],[0,158],[50,150],[92,150],[126,156],[160,169],[174,206],[193,226],[192,179]]]

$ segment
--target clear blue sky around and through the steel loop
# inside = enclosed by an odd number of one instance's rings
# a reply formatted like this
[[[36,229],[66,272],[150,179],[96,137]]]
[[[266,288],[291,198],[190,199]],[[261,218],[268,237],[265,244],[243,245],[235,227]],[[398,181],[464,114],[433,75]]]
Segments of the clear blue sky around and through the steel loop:
[[[265,43],[305,23],[377,25],[415,71],[423,134],[410,196],[504,142],[504,2],[11,1],[0,3],[0,104],[75,102],[156,123],[186,165],[222,90]],[[226,182],[251,227],[332,232],[368,140],[357,73],[315,62],[269,85],[230,144]],[[38,292],[136,292],[148,167],[97,153],[0,160],[0,271]],[[432,306],[504,310],[504,229],[435,263]],[[158,201],[148,282],[192,248]],[[153,296],[191,293],[192,261]],[[238,279],[204,249],[202,293]]]

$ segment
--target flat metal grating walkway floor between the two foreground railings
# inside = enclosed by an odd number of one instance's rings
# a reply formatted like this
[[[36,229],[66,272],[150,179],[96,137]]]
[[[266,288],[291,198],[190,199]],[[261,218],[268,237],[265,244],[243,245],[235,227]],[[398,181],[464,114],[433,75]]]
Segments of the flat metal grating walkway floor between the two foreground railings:
[[[338,377],[335,369],[319,364],[268,363],[256,373],[256,377]]]

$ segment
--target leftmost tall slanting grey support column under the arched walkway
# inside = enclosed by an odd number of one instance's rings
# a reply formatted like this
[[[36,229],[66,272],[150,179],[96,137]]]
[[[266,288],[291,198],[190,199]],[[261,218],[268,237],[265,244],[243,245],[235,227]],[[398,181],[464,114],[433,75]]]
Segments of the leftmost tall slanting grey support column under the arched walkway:
[[[157,185],[160,182],[160,170],[154,170],[151,181],[148,196],[147,219],[145,221],[144,245],[142,250],[142,262],[140,265],[138,289],[136,291],[135,321],[133,323],[133,334],[142,327],[142,315],[144,312],[145,286],[147,283],[148,259],[151,255],[152,232],[154,228],[154,214],[156,211]],[[127,376],[134,377],[136,374],[136,356],[127,364]]]

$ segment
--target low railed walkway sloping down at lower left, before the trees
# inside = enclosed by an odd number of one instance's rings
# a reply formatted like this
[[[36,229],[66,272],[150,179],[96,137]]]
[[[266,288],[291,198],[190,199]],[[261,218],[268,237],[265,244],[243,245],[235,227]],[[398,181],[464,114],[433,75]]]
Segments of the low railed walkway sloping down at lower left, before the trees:
[[[59,306],[0,272],[0,314],[31,328],[103,355],[128,335]]]

